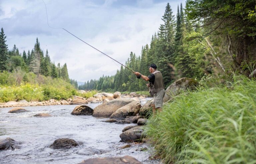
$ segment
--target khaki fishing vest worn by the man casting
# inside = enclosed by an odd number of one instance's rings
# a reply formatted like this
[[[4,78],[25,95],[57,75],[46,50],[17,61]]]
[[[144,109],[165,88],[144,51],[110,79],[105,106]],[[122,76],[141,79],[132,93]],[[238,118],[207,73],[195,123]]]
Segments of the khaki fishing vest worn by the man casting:
[[[155,82],[152,84],[150,82],[150,95],[153,96],[156,92],[164,89],[164,80],[162,73],[160,71],[155,70],[152,74],[155,75]]]

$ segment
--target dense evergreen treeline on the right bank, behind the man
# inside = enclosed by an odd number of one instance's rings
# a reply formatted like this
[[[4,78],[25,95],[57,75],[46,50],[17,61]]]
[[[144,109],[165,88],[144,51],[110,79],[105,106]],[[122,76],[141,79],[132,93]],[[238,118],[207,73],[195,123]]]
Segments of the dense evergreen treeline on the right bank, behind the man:
[[[181,77],[249,76],[256,64],[255,3],[188,0],[185,9],[178,5],[176,19],[168,3],[150,44],[142,46],[139,56],[131,52],[125,64],[148,75],[148,66],[155,63],[166,87]],[[145,84],[121,66],[114,76],[87,81],[79,89],[136,91],[144,90]]]

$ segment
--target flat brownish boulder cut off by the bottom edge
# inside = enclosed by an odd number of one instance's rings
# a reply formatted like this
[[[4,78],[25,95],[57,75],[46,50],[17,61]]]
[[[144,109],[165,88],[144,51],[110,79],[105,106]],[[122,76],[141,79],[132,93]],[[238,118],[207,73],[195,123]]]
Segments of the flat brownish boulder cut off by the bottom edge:
[[[131,156],[124,157],[103,157],[83,160],[80,164],[142,164]]]

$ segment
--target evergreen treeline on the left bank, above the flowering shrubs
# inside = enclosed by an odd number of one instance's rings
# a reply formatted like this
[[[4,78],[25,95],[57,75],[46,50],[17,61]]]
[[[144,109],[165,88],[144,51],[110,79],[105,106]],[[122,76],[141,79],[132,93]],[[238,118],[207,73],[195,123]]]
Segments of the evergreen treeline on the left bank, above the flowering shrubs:
[[[38,38],[32,50],[27,52],[24,50],[22,53],[16,47],[8,49],[6,44],[6,36],[3,28],[1,28],[0,34],[0,71],[13,72],[17,69],[21,69],[24,72],[33,72],[36,75],[50,76],[52,78],[61,78],[64,81],[70,82],[67,64],[63,66],[60,63],[57,66],[51,61],[48,50],[44,54],[40,48]],[[27,75],[22,77],[26,81]],[[74,84],[74,85],[77,85]]]

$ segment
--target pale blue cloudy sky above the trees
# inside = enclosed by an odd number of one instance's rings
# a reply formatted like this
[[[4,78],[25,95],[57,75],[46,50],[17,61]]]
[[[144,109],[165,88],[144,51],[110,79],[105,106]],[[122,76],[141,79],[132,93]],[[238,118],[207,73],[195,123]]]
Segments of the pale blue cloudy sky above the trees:
[[[173,14],[185,0],[0,0],[0,28],[7,36],[8,48],[15,44],[20,52],[31,51],[36,38],[41,49],[48,49],[55,64],[67,64],[69,78],[85,82],[102,75],[114,75],[114,63],[63,29],[125,63],[134,52],[150,44],[158,31],[169,2]]]

